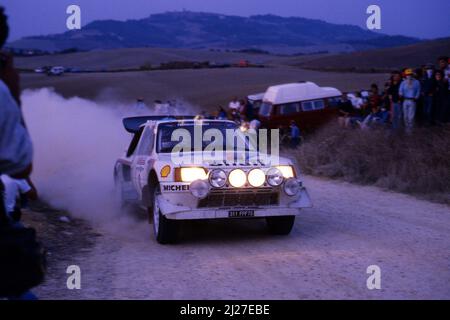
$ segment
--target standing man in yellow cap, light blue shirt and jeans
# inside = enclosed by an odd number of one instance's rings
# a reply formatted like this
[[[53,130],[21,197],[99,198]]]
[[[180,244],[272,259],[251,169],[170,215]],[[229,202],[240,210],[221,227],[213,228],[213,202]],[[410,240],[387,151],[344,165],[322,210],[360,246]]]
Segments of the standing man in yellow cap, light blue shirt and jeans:
[[[414,79],[412,69],[405,70],[405,80],[400,84],[399,94],[403,99],[403,120],[407,132],[414,127],[417,100],[420,97],[420,82]]]

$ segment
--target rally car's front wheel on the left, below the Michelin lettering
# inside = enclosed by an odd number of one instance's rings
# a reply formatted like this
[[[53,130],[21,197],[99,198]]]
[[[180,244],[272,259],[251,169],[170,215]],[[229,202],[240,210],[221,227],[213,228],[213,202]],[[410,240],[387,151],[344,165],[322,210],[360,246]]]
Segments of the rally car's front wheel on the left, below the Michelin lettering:
[[[179,221],[167,219],[156,203],[159,186],[154,188],[153,205],[149,207],[149,214],[153,216],[153,234],[159,244],[174,244],[178,241]]]

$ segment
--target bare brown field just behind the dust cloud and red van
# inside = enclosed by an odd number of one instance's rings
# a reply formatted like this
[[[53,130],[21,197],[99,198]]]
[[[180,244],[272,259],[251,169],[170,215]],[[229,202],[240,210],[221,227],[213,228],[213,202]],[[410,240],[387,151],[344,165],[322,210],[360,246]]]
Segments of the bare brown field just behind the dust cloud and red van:
[[[337,74],[302,70],[295,67],[229,68],[200,70],[142,71],[120,73],[65,74],[48,77],[22,74],[22,87],[53,87],[65,97],[79,96],[93,100],[125,103],[143,97],[182,99],[205,110],[227,104],[234,96],[263,92],[270,85],[308,80],[340,90],[367,88],[372,82],[382,84],[383,74]]]

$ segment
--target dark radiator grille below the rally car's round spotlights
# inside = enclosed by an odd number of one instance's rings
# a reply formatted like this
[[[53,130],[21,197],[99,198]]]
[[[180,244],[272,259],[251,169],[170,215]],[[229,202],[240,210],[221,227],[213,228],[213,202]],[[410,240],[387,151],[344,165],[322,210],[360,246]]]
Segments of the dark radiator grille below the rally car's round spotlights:
[[[273,190],[213,190],[198,202],[198,208],[275,206],[278,192]]]

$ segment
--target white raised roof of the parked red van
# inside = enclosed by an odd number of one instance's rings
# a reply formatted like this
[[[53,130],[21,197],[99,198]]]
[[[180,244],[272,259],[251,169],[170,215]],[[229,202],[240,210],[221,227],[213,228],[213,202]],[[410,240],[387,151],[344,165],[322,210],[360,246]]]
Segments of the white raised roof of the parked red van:
[[[287,83],[269,87],[264,94],[264,101],[272,104],[290,103],[341,96],[336,88],[319,87],[313,82]]]

